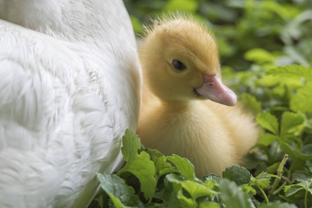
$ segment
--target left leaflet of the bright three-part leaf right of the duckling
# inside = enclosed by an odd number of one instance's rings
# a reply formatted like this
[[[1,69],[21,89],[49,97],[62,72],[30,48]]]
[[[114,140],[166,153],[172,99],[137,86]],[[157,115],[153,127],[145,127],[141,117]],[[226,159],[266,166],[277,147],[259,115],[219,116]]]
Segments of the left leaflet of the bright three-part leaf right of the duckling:
[[[277,118],[269,112],[257,114],[256,119],[263,128],[270,130],[270,132],[275,135],[279,134],[279,123],[277,122]]]

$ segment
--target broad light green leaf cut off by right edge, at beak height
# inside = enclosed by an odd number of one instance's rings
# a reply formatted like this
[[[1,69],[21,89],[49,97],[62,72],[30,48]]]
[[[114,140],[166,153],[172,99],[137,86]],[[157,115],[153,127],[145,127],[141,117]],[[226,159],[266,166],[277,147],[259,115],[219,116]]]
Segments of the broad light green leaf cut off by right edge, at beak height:
[[[312,83],[306,83],[291,97],[291,110],[295,112],[312,112]]]

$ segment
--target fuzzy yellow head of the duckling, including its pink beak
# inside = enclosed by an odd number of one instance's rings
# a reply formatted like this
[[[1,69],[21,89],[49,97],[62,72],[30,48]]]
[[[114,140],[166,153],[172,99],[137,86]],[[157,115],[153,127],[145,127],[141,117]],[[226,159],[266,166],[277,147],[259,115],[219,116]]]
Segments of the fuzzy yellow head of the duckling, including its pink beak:
[[[144,79],[161,100],[236,104],[236,94],[220,80],[213,35],[193,19],[176,16],[155,22],[146,29],[139,54]]]

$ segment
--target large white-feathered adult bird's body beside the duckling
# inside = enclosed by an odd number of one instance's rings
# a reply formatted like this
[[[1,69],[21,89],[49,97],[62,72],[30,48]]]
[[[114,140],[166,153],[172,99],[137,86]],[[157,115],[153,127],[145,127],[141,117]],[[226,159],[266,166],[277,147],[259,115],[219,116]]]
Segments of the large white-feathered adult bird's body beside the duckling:
[[[0,0],[0,207],[87,207],[136,130],[141,72],[121,0]]]

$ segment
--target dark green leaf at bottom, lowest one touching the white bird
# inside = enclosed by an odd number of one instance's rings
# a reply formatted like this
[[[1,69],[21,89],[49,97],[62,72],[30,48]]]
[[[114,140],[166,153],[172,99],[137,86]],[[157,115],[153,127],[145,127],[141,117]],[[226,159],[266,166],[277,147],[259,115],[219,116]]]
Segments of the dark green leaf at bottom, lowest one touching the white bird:
[[[137,207],[139,196],[135,195],[135,190],[128,187],[125,181],[117,175],[102,175],[97,173],[101,188],[110,196],[116,207]]]

